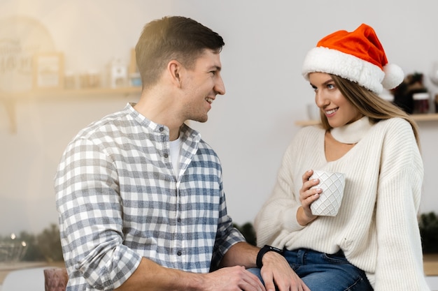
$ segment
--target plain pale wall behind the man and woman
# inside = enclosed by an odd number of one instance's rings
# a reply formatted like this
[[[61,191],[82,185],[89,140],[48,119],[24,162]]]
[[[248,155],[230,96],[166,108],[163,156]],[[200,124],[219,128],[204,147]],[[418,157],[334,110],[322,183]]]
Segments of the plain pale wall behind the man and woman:
[[[390,62],[428,73],[438,61],[438,2],[419,0],[1,0],[0,17],[36,17],[64,52],[66,70],[101,69],[129,57],[146,22],[193,17],[225,38],[227,94],[206,124],[192,122],[218,152],[229,214],[253,221],[269,195],[285,147],[306,119],[313,91],[300,75],[304,54],[323,36],[365,22],[376,29]],[[1,57],[1,56],[0,56]],[[426,84],[430,85],[428,80]],[[430,85],[431,91],[438,91]],[[136,96],[19,100],[17,132],[0,107],[0,234],[39,232],[57,222],[52,178],[67,142],[80,128]],[[421,211],[438,211],[438,121],[420,124],[425,163]],[[7,223],[5,223],[5,221]]]

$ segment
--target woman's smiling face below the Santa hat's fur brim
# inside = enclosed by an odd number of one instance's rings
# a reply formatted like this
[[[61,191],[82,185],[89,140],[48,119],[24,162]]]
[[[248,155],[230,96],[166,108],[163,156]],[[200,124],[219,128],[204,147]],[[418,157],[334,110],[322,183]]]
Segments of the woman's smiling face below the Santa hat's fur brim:
[[[315,90],[315,103],[333,128],[350,124],[363,114],[348,101],[327,73],[310,73],[309,82]]]

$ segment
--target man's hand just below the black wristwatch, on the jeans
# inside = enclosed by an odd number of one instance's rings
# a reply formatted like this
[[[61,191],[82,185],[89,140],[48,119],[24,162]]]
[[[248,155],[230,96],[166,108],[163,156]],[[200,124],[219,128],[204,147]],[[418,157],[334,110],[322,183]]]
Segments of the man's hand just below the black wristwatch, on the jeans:
[[[280,291],[310,291],[283,255],[267,252],[263,255],[262,262],[260,274],[267,291],[275,291],[275,286]]]

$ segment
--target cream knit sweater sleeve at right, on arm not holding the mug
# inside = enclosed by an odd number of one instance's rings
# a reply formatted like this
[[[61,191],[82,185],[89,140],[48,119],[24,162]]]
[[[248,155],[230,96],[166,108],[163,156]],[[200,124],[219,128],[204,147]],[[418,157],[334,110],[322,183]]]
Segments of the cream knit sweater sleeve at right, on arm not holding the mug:
[[[386,128],[376,200],[375,290],[429,290],[417,221],[423,162],[407,121],[394,119]]]

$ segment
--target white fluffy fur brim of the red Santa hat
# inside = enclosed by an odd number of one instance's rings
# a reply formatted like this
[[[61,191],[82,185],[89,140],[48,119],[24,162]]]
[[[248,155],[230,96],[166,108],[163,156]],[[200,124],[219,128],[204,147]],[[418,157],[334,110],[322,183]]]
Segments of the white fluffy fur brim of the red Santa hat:
[[[385,73],[379,66],[339,50],[332,50],[327,47],[313,47],[304,58],[302,75],[306,80],[309,80],[309,73],[313,72],[329,73],[343,77],[374,91],[376,94],[383,91],[382,81]],[[388,78],[388,80],[388,82],[393,83],[391,78]]]

